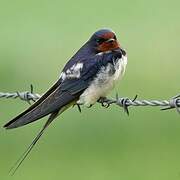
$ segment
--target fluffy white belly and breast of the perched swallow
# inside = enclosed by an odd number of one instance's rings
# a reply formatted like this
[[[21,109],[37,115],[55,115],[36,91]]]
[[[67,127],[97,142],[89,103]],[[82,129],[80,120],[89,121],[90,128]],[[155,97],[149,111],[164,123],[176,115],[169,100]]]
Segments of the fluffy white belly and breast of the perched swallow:
[[[114,64],[115,72],[112,72],[113,65],[110,63],[107,67],[103,67],[96,78],[91,82],[90,86],[80,96],[77,103],[90,106],[91,104],[96,103],[100,97],[105,97],[123,76],[126,64],[127,57],[122,56],[122,58]]]

